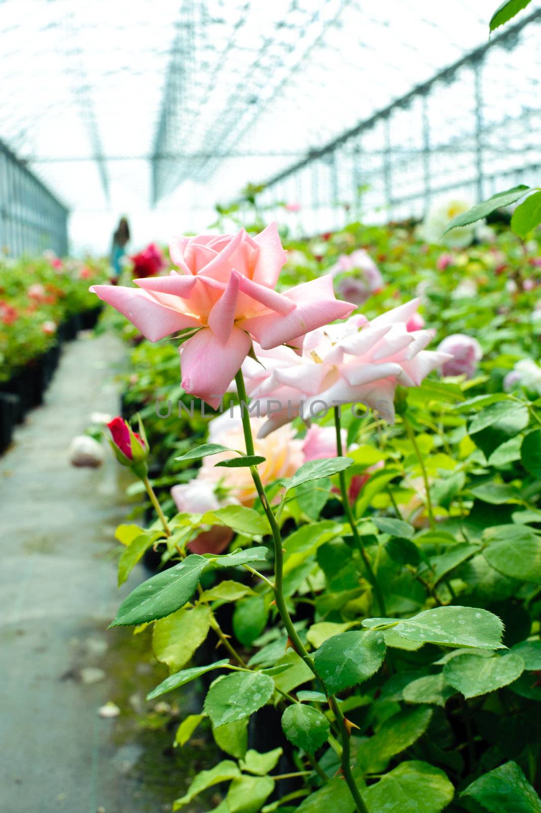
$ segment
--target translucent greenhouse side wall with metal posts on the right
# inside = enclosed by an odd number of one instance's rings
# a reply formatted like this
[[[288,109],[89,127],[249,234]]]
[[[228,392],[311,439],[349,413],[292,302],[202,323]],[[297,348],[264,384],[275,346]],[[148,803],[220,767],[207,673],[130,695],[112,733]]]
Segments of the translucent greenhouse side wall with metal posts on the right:
[[[534,11],[277,173],[262,208],[301,235],[359,218],[422,219],[444,196],[473,203],[519,183],[539,185],[540,23]],[[284,211],[292,203],[296,211]]]

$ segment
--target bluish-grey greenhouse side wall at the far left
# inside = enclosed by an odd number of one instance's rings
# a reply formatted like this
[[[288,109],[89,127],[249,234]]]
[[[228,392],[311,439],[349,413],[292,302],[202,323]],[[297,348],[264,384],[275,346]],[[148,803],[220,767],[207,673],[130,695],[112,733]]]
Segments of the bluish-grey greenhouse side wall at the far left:
[[[67,254],[67,208],[0,142],[0,249]]]

